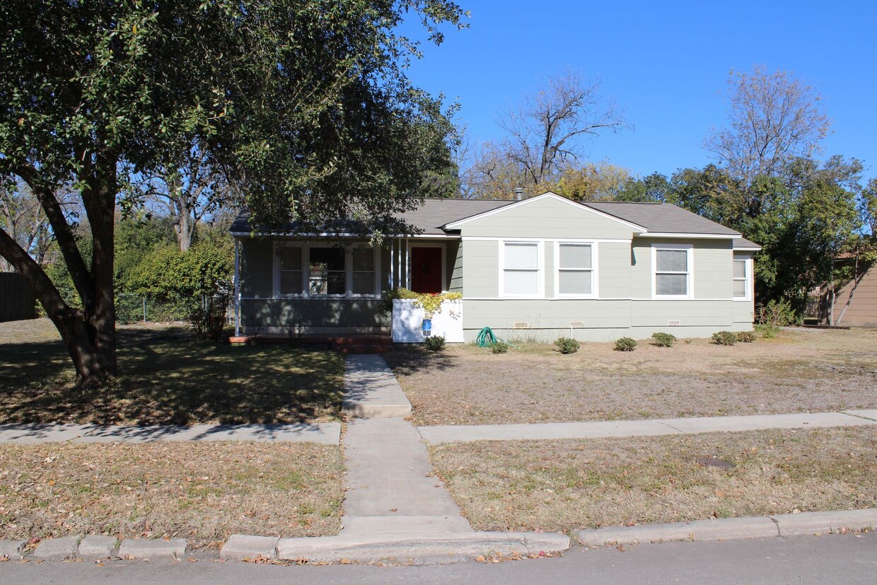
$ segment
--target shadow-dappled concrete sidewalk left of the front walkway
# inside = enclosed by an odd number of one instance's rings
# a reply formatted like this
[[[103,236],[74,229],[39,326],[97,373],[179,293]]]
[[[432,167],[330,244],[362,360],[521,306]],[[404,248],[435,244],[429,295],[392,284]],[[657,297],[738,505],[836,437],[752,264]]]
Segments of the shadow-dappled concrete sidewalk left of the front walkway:
[[[0,443],[149,443],[153,441],[305,441],[338,445],[341,424],[194,424],[103,426],[99,424],[0,424]]]

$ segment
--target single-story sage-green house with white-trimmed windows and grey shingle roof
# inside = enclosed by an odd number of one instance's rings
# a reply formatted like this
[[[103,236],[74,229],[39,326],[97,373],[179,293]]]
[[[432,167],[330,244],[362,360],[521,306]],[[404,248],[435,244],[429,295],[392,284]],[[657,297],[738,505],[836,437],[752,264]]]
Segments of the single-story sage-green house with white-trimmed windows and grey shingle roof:
[[[759,246],[667,203],[427,199],[414,233],[345,235],[232,225],[245,334],[389,334],[384,291],[457,291],[467,341],[584,340],[748,331]]]

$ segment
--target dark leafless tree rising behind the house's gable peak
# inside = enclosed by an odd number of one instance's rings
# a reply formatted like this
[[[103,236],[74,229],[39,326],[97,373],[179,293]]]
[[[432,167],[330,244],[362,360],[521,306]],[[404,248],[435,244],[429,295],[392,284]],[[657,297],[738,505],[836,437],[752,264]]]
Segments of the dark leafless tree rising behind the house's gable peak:
[[[549,80],[517,110],[506,112],[499,125],[508,134],[503,144],[508,159],[534,186],[577,161],[584,139],[631,128],[622,112],[603,99],[599,80],[574,73]]]

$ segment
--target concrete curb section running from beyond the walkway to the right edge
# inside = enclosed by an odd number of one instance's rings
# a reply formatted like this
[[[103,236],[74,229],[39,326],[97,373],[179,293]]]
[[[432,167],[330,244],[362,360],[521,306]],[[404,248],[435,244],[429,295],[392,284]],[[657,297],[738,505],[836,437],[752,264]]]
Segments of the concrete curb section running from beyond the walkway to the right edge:
[[[582,546],[615,546],[673,540],[706,541],[801,536],[869,530],[874,526],[877,526],[877,508],[718,518],[670,524],[612,526],[578,531],[575,539]]]

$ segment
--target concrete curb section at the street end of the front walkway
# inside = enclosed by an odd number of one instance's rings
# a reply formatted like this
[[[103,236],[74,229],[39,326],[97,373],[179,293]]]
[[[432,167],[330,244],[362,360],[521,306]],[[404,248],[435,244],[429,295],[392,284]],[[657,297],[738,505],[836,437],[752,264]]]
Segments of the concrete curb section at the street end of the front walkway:
[[[460,557],[490,553],[562,553],[570,546],[557,532],[449,532],[381,536],[339,535],[323,538],[280,539],[277,558],[311,562],[395,560],[398,562],[451,562]]]

